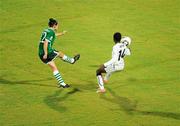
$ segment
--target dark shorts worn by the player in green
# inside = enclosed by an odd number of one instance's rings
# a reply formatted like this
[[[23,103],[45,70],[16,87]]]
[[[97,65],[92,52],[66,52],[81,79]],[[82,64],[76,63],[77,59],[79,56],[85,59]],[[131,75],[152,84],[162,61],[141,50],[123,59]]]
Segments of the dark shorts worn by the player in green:
[[[53,51],[50,54],[47,55],[47,59],[43,59],[44,55],[39,55],[39,58],[41,59],[41,61],[45,64],[48,64],[49,62],[53,61],[54,59],[56,59],[56,57],[58,56],[58,51]]]

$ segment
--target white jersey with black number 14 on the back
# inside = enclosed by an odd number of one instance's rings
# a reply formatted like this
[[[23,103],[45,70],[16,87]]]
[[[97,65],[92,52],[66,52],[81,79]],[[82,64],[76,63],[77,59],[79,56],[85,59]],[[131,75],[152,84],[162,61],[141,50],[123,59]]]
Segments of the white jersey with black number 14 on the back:
[[[104,63],[104,66],[109,65],[123,65],[124,66],[124,56],[131,55],[130,49],[124,43],[116,43],[112,50],[112,59]]]

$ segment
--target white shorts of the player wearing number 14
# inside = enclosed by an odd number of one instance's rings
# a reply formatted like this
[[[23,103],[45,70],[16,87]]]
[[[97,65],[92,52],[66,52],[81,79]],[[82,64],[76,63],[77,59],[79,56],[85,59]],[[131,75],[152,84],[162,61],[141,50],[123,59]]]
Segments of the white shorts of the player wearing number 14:
[[[106,73],[112,73],[115,71],[120,71],[124,69],[124,63],[121,64],[110,64],[105,67]]]

